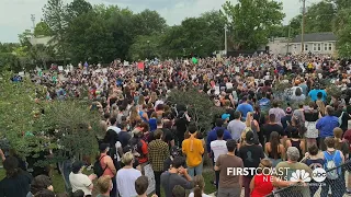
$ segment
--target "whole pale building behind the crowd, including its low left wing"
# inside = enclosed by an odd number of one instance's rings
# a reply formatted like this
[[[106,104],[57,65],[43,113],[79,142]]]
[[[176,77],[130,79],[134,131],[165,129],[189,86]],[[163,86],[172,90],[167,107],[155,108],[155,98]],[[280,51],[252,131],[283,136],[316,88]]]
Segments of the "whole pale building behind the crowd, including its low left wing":
[[[271,39],[267,48],[273,54],[285,55],[301,54],[301,40],[302,36],[297,35],[293,39],[286,37],[278,37]],[[312,33],[304,35],[304,53],[336,55],[337,54],[337,36],[331,32],[325,33]]]

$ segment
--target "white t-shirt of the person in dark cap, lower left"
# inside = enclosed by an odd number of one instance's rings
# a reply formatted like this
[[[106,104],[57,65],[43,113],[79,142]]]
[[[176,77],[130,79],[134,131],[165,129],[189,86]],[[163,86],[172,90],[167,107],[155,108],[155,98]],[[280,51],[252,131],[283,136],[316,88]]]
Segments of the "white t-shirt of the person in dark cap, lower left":
[[[75,174],[70,173],[69,174],[69,182],[70,185],[72,186],[72,192],[75,193],[76,190],[83,190],[84,195],[91,195],[91,190],[89,189],[89,186],[92,184],[91,179],[86,175],[86,174]]]

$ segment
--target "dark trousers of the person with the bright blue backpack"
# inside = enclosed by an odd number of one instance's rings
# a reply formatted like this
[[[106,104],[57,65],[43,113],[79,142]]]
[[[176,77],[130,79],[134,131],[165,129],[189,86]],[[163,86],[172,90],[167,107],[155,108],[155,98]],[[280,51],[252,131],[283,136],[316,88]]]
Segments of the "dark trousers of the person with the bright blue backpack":
[[[329,187],[331,187],[331,195],[332,197],[342,197],[346,193],[346,185],[344,185],[344,175],[339,175],[337,179],[329,179],[326,178],[324,183],[326,186],[321,186],[320,197],[327,197]]]

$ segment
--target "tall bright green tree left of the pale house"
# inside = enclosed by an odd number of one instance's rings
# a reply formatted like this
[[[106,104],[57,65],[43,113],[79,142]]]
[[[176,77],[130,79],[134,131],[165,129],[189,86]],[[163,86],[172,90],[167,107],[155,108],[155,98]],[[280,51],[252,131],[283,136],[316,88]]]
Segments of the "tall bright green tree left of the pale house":
[[[230,23],[233,39],[238,49],[257,49],[268,43],[274,25],[280,25],[285,14],[283,4],[270,0],[239,0],[236,5],[227,1],[224,14]]]

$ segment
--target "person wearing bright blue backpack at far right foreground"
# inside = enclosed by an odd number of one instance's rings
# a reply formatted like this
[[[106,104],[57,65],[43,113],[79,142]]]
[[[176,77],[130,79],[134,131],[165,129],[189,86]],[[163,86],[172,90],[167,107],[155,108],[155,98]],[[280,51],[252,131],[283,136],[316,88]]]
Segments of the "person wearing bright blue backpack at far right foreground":
[[[342,167],[338,167],[344,163],[344,157],[341,151],[335,148],[335,143],[333,138],[327,137],[325,139],[327,149],[322,153],[325,155],[324,167],[327,171],[327,181],[325,182],[327,185],[321,187],[320,197],[327,197],[329,188],[331,188],[331,195],[335,197],[342,197],[346,192],[344,174]]]

